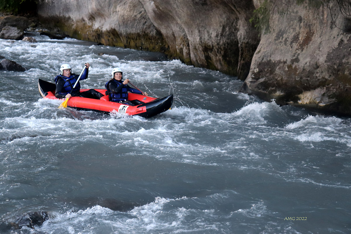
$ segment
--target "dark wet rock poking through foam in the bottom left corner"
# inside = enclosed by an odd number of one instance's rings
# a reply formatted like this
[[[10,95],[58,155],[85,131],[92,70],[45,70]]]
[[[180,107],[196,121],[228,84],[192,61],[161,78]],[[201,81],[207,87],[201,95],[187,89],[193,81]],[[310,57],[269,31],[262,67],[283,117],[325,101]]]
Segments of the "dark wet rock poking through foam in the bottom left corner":
[[[15,222],[11,222],[10,225],[14,228],[22,228],[22,227],[30,227],[34,228],[34,226],[41,226],[45,220],[48,220],[49,216],[46,211],[37,211],[37,212],[30,212]]]

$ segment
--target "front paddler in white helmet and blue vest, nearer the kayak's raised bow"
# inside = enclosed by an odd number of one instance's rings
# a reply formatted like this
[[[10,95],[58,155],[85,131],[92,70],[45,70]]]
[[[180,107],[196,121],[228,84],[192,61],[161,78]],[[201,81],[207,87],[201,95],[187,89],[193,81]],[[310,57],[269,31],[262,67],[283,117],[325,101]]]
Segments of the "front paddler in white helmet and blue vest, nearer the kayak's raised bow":
[[[143,94],[147,96],[147,93],[142,93],[138,89],[129,87],[129,79],[122,80],[123,72],[120,68],[115,67],[112,69],[111,73],[112,79],[106,82],[106,95],[110,101],[120,102],[130,106],[144,104],[144,102],[139,100],[128,101],[128,91],[131,93]]]

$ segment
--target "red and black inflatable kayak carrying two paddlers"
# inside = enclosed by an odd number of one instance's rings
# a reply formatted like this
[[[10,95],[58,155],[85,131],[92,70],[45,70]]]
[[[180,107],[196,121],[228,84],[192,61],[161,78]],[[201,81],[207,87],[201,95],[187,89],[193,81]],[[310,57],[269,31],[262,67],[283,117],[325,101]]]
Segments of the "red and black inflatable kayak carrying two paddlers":
[[[38,88],[39,93],[43,98],[59,100],[55,97],[56,85],[54,83],[39,79]],[[80,89],[81,92],[87,90],[88,89]],[[95,90],[105,95],[106,89]],[[173,94],[164,98],[152,98],[141,94],[129,93],[128,100],[139,100],[144,102],[144,104],[141,103],[141,105],[130,106],[118,102],[111,102],[108,99],[108,95],[105,95],[100,100],[72,97],[68,99],[67,107],[104,114],[109,114],[115,111],[121,114],[139,115],[144,118],[149,118],[170,109],[173,103]]]

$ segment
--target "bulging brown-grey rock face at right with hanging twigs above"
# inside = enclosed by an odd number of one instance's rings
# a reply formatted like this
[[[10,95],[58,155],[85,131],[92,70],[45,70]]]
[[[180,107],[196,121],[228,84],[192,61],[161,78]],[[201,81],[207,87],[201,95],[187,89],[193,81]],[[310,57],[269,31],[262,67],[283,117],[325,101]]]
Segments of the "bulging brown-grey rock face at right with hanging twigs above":
[[[336,4],[274,4],[286,14],[271,12],[272,30],[262,34],[241,91],[282,105],[350,115],[350,21]]]

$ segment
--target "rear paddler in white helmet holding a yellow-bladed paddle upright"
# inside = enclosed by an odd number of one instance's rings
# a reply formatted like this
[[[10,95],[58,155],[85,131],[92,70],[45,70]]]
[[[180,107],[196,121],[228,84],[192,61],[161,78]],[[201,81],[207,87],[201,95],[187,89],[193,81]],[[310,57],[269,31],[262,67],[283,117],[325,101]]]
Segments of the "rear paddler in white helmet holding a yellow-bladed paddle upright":
[[[85,63],[86,68],[82,73],[79,80],[85,80],[88,78],[88,71],[90,64]],[[99,93],[95,89],[89,89],[85,92],[80,92],[80,83],[78,81],[77,85],[74,87],[75,82],[78,80],[79,75],[72,73],[72,68],[69,64],[65,63],[62,64],[60,67],[60,75],[56,76],[55,83],[56,83],[56,90],[55,90],[55,97],[56,98],[71,98],[71,96],[80,96],[83,98],[93,98],[93,99],[100,99],[103,94]],[[73,91],[72,91],[73,89]],[[70,92],[72,93],[70,94]]]

